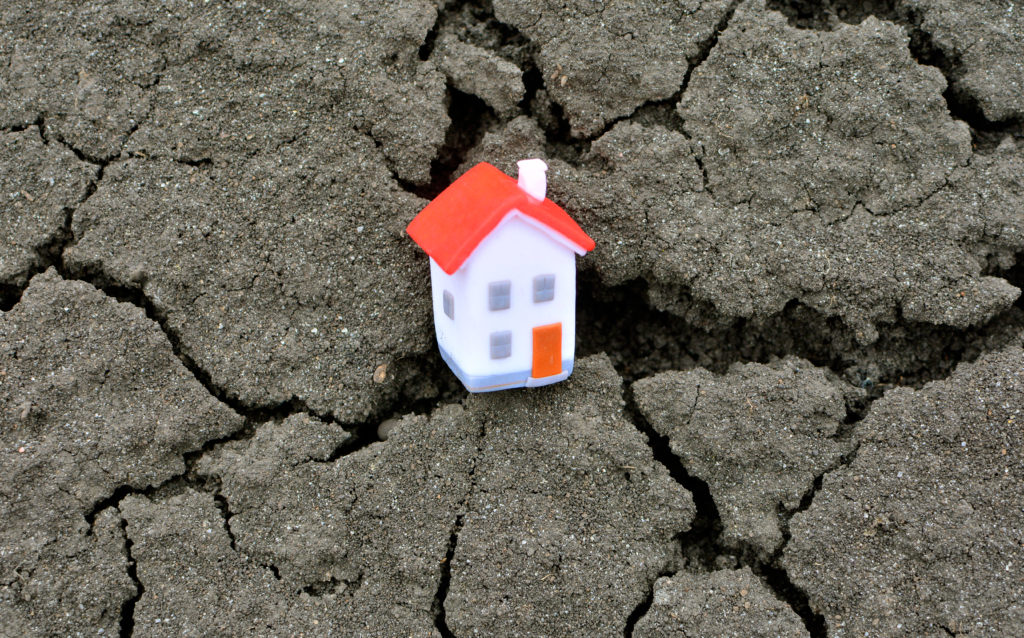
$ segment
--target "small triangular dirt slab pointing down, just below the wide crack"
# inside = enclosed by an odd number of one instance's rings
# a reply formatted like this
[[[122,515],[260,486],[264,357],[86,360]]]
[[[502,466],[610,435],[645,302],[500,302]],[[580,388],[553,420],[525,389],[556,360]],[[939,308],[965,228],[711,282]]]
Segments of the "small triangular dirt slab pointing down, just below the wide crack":
[[[857,389],[791,357],[736,365],[724,376],[697,368],[633,386],[637,407],[695,477],[711,488],[722,543],[767,559],[816,476],[852,443],[843,431]]]

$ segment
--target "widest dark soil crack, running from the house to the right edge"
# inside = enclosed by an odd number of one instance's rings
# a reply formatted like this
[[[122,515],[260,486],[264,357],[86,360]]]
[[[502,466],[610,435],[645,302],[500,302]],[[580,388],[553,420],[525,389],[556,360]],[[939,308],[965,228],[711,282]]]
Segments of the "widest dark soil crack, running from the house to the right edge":
[[[1020,288],[1024,259],[992,270]],[[1015,342],[1024,328],[1024,299],[989,322],[958,329],[902,316],[879,325],[880,337],[864,345],[838,316],[791,301],[763,317],[733,317],[692,299],[685,287],[675,291],[687,317],[650,305],[642,279],[607,286],[594,272],[578,280],[578,355],[606,353],[618,374],[632,382],[659,372],[702,367],[724,374],[739,363],[767,364],[786,355],[827,368],[851,385],[877,397],[893,386],[921,387],[945,378],[961,363]]]

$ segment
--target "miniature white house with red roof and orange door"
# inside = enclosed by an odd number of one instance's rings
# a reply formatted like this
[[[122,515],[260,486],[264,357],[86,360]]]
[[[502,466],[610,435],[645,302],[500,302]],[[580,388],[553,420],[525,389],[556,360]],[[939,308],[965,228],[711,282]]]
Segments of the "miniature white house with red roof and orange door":
[[[547,165],[518,183],[480,163],[409,224],[430,256],[441,356],[470,392],[556,383],[572,372],[575,256],[594,240],[545,199]]]

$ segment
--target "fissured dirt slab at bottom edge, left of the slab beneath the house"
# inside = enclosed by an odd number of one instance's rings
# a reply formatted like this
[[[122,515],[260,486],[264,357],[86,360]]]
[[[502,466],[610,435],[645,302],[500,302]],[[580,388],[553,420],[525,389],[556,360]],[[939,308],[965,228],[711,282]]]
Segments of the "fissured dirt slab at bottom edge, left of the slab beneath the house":
[[[215,496],[189,490],[126,511],[145,588],[136,623],[159,621],[167,635],[434,635],[476,435],[453,406],[352,454],[341,427],[302,415],[223,445],[198,467]],[[180,573],[180,552],[193,547],[197,568]]]

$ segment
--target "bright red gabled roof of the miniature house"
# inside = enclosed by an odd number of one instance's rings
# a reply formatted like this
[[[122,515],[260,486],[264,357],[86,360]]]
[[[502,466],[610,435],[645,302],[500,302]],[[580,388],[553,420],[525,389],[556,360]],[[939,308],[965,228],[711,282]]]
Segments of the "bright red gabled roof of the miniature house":
[[[551,200],[538,201],[516,180],[486,162],[456,179],[410,222],[406,231],[437,265],[454,274],[512,209],[536,219],[580,248],[594,250],[594,240]]]

